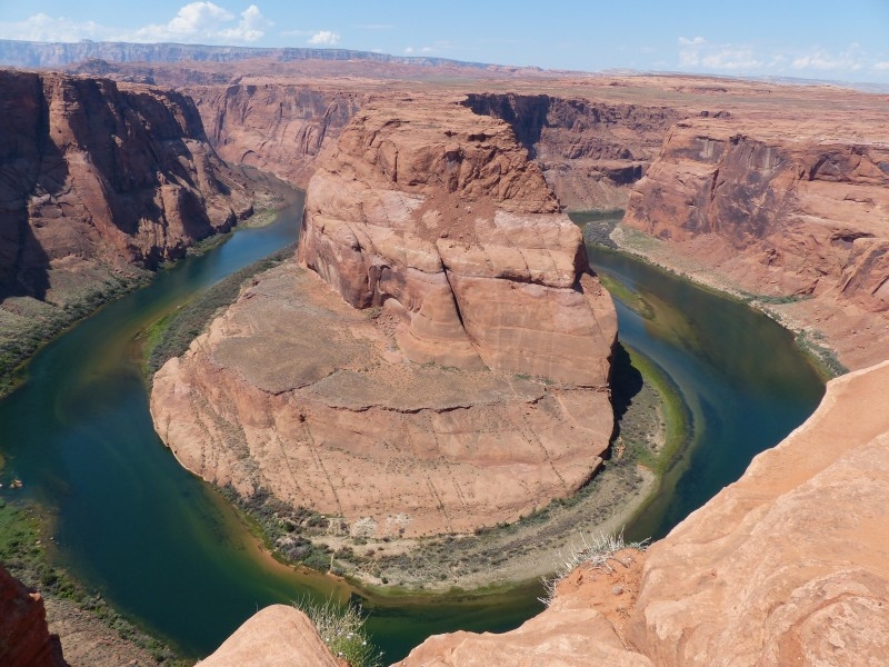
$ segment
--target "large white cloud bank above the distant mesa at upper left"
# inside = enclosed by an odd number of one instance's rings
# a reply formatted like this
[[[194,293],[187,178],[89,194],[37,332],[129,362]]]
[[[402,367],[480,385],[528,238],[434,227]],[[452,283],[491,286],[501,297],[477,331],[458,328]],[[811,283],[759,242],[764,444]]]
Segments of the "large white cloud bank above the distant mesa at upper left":
[[[256,4],[240,14],[240,21],[229,10],[213,2],[200,1],[182,6],[167,23],[150,23],[123,29],[94,21],[73,21],[64,17],[34,14],[23,21],[0,22],[0,38],[30,41],[73,42],[97,41],[179,41],[207,43],[254,42],[261,39],[271,22]]]

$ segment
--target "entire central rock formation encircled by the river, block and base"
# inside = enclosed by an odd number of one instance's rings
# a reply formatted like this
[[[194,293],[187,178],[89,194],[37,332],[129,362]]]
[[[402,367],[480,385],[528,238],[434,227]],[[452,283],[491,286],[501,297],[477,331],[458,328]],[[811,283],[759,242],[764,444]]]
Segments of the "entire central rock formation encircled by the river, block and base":
[[[309,186],[299,258],[156,375],[186,467],[413,536],[513,520],[600,465],[613,306],[506,123],[362,110]]]

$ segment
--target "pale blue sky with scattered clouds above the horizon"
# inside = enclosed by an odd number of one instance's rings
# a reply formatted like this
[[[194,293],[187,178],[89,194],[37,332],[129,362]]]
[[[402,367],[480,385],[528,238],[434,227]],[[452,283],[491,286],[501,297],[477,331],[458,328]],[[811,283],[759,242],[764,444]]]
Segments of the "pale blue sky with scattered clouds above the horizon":
[[[889,83],[889,0],[0,0],[0,39],[341,48]]]

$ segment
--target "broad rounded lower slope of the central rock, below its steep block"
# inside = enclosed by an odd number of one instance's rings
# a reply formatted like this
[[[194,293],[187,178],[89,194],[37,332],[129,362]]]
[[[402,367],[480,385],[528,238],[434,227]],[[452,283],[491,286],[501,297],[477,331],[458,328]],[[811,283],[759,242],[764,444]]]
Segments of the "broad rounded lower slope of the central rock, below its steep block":
[[[292,265],[269,271],[158,371],[158,432],[209,481],[379,537],[515,520],[600,465],[607,391],[406,362],[393,319]]]

